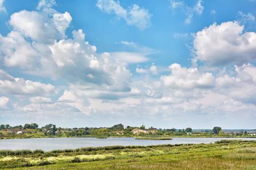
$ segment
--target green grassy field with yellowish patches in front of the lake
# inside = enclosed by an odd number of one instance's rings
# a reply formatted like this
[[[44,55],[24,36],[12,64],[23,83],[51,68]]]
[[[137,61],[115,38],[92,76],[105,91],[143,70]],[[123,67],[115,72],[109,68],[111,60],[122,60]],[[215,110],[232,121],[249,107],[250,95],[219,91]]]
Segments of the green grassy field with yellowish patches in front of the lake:
[[[256,169],[256,141],[0,151],[0,169]]]

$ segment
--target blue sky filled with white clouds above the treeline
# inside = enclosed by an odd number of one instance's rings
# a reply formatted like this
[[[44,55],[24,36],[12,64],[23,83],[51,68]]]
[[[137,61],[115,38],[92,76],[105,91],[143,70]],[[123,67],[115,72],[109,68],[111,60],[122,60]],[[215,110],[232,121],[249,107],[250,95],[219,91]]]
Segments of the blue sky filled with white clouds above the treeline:
[[[255,0],[0,0],[0,124],[256,129]]]

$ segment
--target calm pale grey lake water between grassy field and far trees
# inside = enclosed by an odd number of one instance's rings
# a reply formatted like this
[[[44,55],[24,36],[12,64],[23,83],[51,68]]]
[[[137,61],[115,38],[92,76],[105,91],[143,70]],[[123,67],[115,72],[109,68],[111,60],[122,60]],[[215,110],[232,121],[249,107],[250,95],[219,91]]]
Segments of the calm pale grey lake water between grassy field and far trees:
[[[75,149],[81,147],[98,147],[114,145],[162,145],[162,144],[180,144],[180,143],[214,143],[224,139],[242,139],[245,141],[256,141],[256,138],[172,138],[172,141],[150,141],[135,140],[134,138],[32,138],[32,139],[2,139],[0,140],[0,150],[36,150],[43,151]]]

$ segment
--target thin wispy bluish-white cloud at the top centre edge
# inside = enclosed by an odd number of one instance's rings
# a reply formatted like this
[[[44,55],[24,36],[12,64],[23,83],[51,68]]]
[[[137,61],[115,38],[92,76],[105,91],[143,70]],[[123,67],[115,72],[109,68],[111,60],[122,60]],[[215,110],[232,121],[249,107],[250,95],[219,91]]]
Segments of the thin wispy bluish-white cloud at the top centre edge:
[[[129,7],[129,10],[125,10],[120,5],[119,1],[98,0],[97,7],[108,14],[115,14],[118,18],[125,19],[128,25],[135,25],[135,27],[138,27],[141,30],[144,30],[151,25],[150,19],[152,14],[136,4],[134,4],[133,7]]]

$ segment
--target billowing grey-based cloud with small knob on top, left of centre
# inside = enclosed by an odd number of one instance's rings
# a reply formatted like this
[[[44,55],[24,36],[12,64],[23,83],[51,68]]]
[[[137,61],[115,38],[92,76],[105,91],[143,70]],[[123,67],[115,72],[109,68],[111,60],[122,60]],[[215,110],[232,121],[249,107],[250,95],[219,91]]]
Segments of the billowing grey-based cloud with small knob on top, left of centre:
[[[89,45],[84,38],[80,29],[73,31],[73,39],[60,40],[49,46],[57,74],[69,84],[129,91],[131,73],[126,64],[118,62],[109,53],[97,54],[96,47]]]

